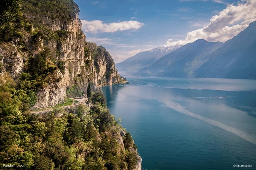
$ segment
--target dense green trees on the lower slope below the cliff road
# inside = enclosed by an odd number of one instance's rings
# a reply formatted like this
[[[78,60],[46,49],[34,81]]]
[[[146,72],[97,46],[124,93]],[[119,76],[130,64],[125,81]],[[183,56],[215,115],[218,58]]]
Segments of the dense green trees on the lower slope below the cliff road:
[[[78,105],[69,111],[56,109],[39,116],[22,111],[23,97],[15,87],[10,77],[1,78],[0,166],[26,164],[20,169],[40,170],[119,170],[136,166],[131,135],[125,134],[122,149],[118,144],[120,126],[101,93],[93,95],[90,110]]]

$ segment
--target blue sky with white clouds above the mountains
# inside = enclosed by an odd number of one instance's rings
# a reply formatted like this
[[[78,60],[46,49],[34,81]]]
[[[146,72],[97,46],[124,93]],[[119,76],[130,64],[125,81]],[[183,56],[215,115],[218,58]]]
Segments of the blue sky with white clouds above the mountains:
[[[74,0],[89,42],[119,63],[160,46],[225,42],[256,20],[256,0]]]

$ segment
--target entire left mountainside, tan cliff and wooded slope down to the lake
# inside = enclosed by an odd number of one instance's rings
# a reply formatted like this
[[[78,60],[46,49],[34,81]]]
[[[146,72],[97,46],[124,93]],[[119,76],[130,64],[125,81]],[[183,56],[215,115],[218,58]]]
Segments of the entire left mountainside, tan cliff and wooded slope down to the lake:
[[[141,170],[131,134],[101,92],[127,81],[104,47],[86,41],[78,13],[73,0],[2,3],[1,166]]]

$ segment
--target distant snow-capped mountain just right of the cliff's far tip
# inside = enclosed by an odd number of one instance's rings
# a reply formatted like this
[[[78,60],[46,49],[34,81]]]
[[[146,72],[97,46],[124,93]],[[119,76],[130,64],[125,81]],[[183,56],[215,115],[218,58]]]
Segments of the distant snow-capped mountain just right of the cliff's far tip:
[[[168,54],[179,47],[181,46],[161,46],[152,50],[143,51],[134,55],[133,57],[117,63],[116,68],[120,72],[120,74],[124,76],[130,76],[135,72],[139,71],[141,68],[150,66],[165,54]]]

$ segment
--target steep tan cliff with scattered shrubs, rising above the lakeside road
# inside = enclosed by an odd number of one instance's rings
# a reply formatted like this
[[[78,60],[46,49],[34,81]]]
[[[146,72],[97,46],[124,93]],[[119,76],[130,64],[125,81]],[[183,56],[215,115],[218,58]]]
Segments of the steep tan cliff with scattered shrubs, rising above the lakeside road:
[[[126,82],[106,49],[86,41],[73,1],[23,1],[21,11],[11,36],[1,36],[0,71],[16,80],[31,74],[37,82],[34,108],[54,106],[67,95],[90,97],[101,86]]]

